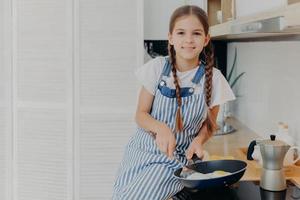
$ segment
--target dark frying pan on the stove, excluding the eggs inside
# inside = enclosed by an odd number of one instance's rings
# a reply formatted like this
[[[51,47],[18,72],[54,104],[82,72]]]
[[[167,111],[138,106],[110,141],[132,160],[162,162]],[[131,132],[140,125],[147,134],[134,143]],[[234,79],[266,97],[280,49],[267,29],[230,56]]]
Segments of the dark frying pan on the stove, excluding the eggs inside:
[[[212,160],[202,161],[186,166],[203,174],[211,173],[216,170],[230,172],[231,174],[216,178],[191,180],[180,176],[182,168],[174,172],[174,176],[187,188],[206,189],[213,187],[226,187],[239,181],[245,173],[247,163],[241,160]]]

